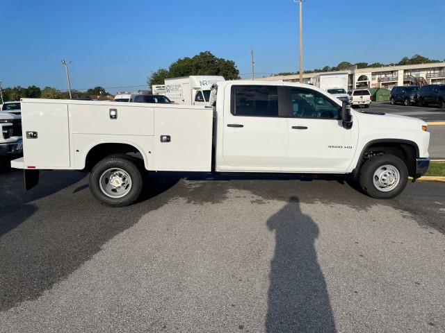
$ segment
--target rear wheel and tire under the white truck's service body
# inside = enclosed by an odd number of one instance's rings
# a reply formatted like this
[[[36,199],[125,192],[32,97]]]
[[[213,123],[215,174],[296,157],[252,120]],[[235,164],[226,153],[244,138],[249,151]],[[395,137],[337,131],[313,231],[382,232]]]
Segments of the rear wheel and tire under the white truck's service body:
[[[124,207],[138,200],[143,175],[131,158],[111,155],[92,168],[89,184],[92,196],[102,205]]]

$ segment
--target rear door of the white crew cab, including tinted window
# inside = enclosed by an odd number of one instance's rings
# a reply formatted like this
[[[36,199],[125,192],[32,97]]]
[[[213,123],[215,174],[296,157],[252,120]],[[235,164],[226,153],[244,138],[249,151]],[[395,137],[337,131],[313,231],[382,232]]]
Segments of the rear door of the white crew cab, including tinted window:
[[[282,87],[233,85],[223,120],[223,159],[240,171],[280,171],[287,153],[287,119],[279,108]],[[281,110],[281,111],[280,111]]]

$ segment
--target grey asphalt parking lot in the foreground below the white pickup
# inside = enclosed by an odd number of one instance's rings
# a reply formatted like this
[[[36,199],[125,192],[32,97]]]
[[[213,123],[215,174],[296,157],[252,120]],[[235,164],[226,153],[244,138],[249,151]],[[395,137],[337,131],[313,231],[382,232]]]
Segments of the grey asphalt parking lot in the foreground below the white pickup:
[[[8,175],[0,332],[445,330],[443,183],[159,173],[112,209],[82,173]]]

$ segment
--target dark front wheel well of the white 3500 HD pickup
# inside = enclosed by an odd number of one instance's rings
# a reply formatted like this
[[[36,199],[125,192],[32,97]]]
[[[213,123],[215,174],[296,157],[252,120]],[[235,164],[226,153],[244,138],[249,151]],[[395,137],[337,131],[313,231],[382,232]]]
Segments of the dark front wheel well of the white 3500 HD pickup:
[[[359,160],[359,165],[357,166],[357,171],[362,168],[362,165],[366,160],[369,160],[373,156],[378,155],[394,155],[400,158],[408,169],[408,175],[411,177],[415,176],[416,173],[416,148],[413,144],[398,143],[398,142],[377,142],[366,147],[364,153],[362,153],[362,158]]]

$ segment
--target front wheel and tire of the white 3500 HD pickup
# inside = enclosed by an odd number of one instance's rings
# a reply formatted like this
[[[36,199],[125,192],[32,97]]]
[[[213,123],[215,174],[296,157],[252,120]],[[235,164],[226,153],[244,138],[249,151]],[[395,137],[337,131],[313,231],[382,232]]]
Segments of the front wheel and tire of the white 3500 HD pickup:
[[[375,156],[364,162],[359,172],[359,184],[375,199],[394,198],[402,193],[408,182],[405,163],[394,155]]]

